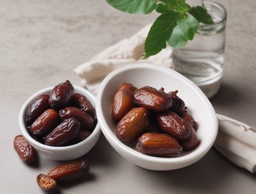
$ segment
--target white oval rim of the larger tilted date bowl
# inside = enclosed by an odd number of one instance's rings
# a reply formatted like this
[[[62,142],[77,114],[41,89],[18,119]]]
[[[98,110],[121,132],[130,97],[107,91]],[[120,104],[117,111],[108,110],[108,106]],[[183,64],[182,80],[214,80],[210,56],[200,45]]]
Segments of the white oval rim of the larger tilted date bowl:
[[[132,69],[136,70],[136,69],[145,69],[145,68],[147,68],[147,69],[149,68],[149,69],[156,70],[156,71],[162,71],[164,73],[168,73],[168,74],[172,75],[175,78],[181,79],[182,81],[186,82],[186,84],[188,84],[189,87],[193,87],[193,89],[198,94],[198,96],[200,98],[202,98],[202,100],[204,100],[205,105],[209,108],[209,112],[211,112],[212,124],[214,125],[214,126],[212,126],[212,129],[214,129],[214,131],[212,131],[213,135],[211,138],[211,142],[207,142],[206,146],[203,147],[204,149],[203,148],[195,149],[193,151],[189,151],[187,154],[186,153],[183,154],[182,156],[170,157],[170,158],[148,156],[146,154],[142,154],[142,153],[136,151],[135,149],[132,149],[131,147],[125,145],[120,140],[118,140],[118,138],[115,136],[115,133],[113,133],[113,130],[111,131],[110,129],[106,129],[106,128],[108,128],[108,124],[107,124],[106,120],[104,119],[103,112],[101,111],[101,109],[102,109],[101,97],[102,97],[102,93],[104,91],[104,86],[106,86],[106,84],[108,84],[108,82],[111,80],[111,78],[115,77],[115,75],[118,75],[119,73],[122,73],[124,71],[129,71]],[[209,149],[211,149],[212,145],[214,144],[214,140],[217,137],[217,133],[218,133],[218,119],[216,117],[216,112],[215,112],[214,108],[212,107],[211,102],[205,96],[205,94],[201,91],[201,89],[198,86],[196,86],[196,84],[193,83],[191,80],[184,77],[184,75],[181,75],[177,71],[172,70],[171,68],[168,68],[166,66],[159,66],[157,64],[131,63],[129,65],[122,66],[120,68],[116,68],[115,70],[111,71],[111,73],[109,73],[100,84],[100,87],[99,87],[99,90],[97,93],[97,98],[96,98],[96,112],[97,112],[98,122],[100,124],[100,129],[101,129],[102,133],[107,138],[107,140],[111,144],[111,146],[119,154],[123,155],[119,151],[119,149],[122,149],[125,153],[129,154],[132,157],[139,158],[140,160],[147,160],[150,162],[157,161],[159,163],[170,163],[170,164],[177,163],[177,162],[183,162],[183,163],[188,163],[188,165],[195,163],[195,161],[198,161],[198,159],[202,158],[209,151]],[[186,165],[184,165],[184,166],[186,166]]]

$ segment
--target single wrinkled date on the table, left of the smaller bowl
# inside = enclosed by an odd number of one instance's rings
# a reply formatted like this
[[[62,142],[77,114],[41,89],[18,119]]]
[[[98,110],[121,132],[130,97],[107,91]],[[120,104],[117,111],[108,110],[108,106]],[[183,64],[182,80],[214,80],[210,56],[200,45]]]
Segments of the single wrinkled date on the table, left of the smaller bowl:
[[[34,163],[37,160],[37,152],[23,135],[17,135],[13,140],[13,147],[24,163]]]

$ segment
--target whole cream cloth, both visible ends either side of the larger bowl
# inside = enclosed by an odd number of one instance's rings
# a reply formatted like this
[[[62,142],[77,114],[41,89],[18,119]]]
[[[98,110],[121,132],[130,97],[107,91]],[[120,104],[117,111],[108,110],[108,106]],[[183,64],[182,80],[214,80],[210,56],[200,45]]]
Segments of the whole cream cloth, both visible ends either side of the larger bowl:
[[[173,68],[172,48],[167,47],[156,56],[142,59],[144,42],[150,25],[145,26],[130,38],[121,40],[115,45],[106,48],[87,63],[77,66],[74,70],[81,78],[83,86],[97,94],[102,80],[120,66],[131,63],[152,63]],[[219,133],[214,147],[228,160],[250,172],[255,172],[256,166],[256,130],[246,124],[217,114]]]

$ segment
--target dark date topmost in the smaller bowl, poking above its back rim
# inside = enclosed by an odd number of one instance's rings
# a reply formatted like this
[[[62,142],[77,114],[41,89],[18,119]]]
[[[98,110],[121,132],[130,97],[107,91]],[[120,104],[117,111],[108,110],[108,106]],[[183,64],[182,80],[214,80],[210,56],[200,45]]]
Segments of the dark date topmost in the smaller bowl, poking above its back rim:
[[[72,84],[68,80],[62,82],[52,89],[49,96],[49,105],[54,109],[65,107],[70,102],[73,93],[74,87]]]

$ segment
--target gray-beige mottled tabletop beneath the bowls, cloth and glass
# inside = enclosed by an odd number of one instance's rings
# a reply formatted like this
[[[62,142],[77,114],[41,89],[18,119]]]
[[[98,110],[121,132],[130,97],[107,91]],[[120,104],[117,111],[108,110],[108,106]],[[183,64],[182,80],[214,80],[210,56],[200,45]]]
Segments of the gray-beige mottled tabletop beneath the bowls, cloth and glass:
[[[216,0],[217,1],[217,0]],[[228,11],[224,76],[211,99],[216,112],[256,126],[256,1],[217,1]],[[39,89],[63,80],[81,85],[74,68],[155,19],[129,15],[106,1],[0,0],[1,184],[0,193],[44,193],[36,175],[58,161],[22,163],[13,149],[20,134],[22,103]],[[179,170],[152,172],[119,156],[101,135],[87,154],[90,174],[63,185],[60,193],[255,193],[256,176],[212,148]]]

